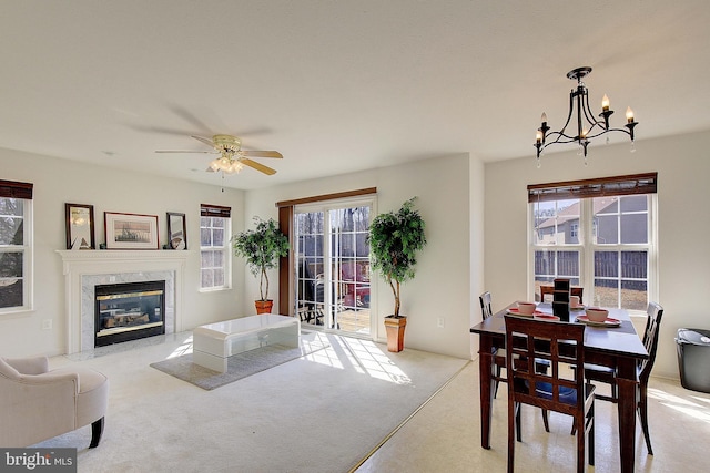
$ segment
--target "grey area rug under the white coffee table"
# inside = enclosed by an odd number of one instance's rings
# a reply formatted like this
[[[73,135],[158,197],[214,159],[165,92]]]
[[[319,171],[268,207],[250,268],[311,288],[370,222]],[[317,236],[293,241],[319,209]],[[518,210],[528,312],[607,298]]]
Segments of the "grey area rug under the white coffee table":
[[[302,339],[301,347],[267,345],[227,359],[224,373],[194,364],[192,353],[151,363],[151,367],[207,391],[311,354],[328,347],[317,339]]]

